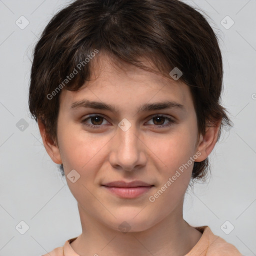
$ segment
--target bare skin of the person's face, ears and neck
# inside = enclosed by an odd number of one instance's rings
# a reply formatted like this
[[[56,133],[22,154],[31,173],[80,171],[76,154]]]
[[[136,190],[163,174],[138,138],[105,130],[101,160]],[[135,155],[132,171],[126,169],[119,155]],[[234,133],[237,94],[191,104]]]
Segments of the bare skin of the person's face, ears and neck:
[[[63,163],[65,175],[72,169],[80,175],[74,183],[66,178],[77,200],[82,226],[82,233],[70,245],[80,256],[185,255],[201,237],[182,215],[193,164],[154,202],[148,198],[196,152],[200,155],[195,161],[209,155],[216,143],[219,124],[208,127],[204,136],[197,133],[192,95],[179,80],[133,65],[123,64],[120,69],[104,54],[98,54],[92,61],[93,72],[86,86],[78,91],[61,91],[57,142],[45,134],[44,125],[38,121],[51,159]],[[152,66],[150,62],[147,64]],[[82,99],[111,104],[118,113],[82,107],[70,109],[74,101]],[[185,110],[137,112],[141,104],[164,100],[178,102]],[[86,120],[99,128],[82,123],[89,114],[103,116]],[[161,128],[161,124],[170,122],[166,118],[152,118],[156,114],[175,121]],[[131,124],[127,131],[118,127],[123,118]],[[136,198],[121,198],[101,186],[115,180],[142,180],[154,186]],[[118,228],[123,221],[130,226],[126,233]]]

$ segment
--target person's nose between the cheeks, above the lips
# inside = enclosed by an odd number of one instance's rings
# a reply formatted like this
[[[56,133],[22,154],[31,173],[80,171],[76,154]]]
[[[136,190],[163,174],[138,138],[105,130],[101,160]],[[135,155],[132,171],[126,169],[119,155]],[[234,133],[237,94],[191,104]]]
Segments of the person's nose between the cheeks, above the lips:
[[[111,142],[109,162],[113,168],[125,171],[141,168],[146,163],[145,148],[135,125],[132,124],[126,131],[118,127]]]

